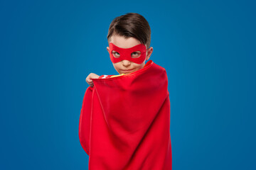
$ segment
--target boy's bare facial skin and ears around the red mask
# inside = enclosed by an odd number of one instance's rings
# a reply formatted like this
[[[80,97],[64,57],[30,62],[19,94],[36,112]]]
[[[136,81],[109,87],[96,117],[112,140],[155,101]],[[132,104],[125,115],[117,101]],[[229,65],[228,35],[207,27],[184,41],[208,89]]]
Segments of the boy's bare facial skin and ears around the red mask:
[[[119,35],[112,35],[112,37],[110,38],[110,42],[112,42],[117,47],[121,47],[121,48],[130,48],[130,47],[134,47],[135,45],[139,45],[141,43],[136,38],[126,39]],[[110,47],[107,47],[107,51],[110,53]],[[149,60],[149,57],[152,51],[153,51],[153,47],[150,47],[149,49],[146,50],[146,59],[144,60],[144,62],[142,62],[142,64],[137,64],[129,60],[122,60],[121,62],[116,62],[116,63],[112,62],[112,64],[114,66],[114,69],[116,69],[119,74],[132,73],[144,67],[145,62],[146,60]],[[112,54],[117,56],[119,55],[119,53],[115,52],[114,50]],[[139,57],[139,51],[132,52],[132,55],[133,57]]]

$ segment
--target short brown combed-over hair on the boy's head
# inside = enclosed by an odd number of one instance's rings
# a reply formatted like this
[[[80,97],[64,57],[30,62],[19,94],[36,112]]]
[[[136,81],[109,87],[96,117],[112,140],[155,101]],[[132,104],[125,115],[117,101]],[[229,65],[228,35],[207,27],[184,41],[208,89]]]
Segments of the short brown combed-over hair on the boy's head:
[[[147,48],[150,46],[151,30],[149,23],[139,13],[126,13],[114,18],[110,23],[107,33],[107,41],[110,42],[112,35],[124,36],[124,38],[136,38]]]

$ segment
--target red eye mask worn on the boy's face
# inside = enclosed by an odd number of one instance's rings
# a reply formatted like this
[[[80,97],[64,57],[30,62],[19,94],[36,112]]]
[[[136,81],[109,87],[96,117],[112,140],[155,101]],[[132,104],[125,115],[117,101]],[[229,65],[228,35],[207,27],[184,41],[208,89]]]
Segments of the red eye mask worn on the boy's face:
[[[112,51],[118,52],[119,56],[114,57]],[[132,52],[141,52],[139,57],[132,57]],[[135,45],[134,47],[130,48],[121,48],[114,45],[110,42],[110,60],[113,63],[121,62],[122,60],[129,60],[130,62],[135,62],[137,64],[142,64],[146,58],[146,46],[144,44]]]

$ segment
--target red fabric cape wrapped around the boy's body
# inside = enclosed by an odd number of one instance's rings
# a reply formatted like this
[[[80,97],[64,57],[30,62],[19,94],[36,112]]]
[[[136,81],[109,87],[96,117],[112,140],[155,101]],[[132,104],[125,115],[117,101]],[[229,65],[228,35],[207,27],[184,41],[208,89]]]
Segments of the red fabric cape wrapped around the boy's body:
[[[79,138],[92,170],[170,170],[171,104],[166,70],[92,79],[82,101]]]

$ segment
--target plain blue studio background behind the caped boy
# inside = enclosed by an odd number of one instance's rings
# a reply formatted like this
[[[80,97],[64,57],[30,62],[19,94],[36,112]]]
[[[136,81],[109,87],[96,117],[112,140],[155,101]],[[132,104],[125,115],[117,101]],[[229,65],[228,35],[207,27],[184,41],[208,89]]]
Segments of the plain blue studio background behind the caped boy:
[[[1,1],[0,169],[87,169],[85,78],[117,74],[111,21],[151,26],[167,71],[173,169],[256,169],[253,1]]]

